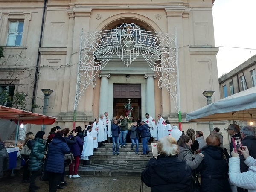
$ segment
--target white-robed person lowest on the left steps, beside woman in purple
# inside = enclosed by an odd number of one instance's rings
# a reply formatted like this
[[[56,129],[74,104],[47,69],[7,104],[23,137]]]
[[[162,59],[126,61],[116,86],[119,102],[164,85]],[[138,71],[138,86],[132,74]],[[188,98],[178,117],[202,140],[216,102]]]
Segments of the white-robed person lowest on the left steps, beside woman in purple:
[[[91,136],[91,131],[93,130],[92,126],[87,127],[87,136],[84,137],[84,147],[81,154],[81,159],[84,160],[84,165],[87,164],[89,156],[93,155],[93,141],[96,140],[96,137]]]

